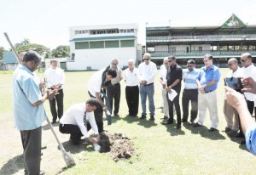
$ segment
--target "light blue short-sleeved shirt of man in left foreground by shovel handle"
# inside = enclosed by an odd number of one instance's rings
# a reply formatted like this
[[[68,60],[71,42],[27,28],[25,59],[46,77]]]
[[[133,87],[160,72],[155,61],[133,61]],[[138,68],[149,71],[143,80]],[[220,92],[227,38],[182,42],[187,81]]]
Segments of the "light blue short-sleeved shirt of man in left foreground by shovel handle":
[[[44,104],[33,106],[42,99],[37,77],[25,65],[19,65],[13,76],[15,127],[20,131],[41,127],[46,119]]]

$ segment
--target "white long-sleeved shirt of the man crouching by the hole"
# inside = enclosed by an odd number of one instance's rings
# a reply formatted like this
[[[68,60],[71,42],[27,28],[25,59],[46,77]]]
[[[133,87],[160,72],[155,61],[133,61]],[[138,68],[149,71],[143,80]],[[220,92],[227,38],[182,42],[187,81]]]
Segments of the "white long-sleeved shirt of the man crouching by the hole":
[[[64,115],[61,117],[61,124],[70,124],[79,126],[81,133],[85,138],[89,138],[90,134],[87,132],[87,128],[84,126],[84,111],[85,103],[73,104],[67,109]],[[90,127],[92,128],[95,134],[98,134],[98,127],[96,125],[94,112],[86,112],[86,120],[89,121]]]

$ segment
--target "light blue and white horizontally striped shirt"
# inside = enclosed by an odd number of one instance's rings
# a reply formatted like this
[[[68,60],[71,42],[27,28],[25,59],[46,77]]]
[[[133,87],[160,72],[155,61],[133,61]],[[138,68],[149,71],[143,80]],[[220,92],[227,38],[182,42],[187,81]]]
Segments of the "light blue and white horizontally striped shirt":
[[[196,84],[196,76],[198,75],[199,71],[193,69],[193,71],[183,71],[183,80],[184,80],[184,88],[185,89],[197,89]]]

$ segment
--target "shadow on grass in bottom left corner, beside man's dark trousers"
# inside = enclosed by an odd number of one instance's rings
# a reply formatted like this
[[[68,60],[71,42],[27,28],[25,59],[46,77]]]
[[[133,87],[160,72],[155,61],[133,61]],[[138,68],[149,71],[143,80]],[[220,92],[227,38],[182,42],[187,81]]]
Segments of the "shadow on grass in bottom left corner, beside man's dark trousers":
[[[24,169],[23,155],[17,155],[5,163],[0,169],[0,174],[15,174],[20,169]]]

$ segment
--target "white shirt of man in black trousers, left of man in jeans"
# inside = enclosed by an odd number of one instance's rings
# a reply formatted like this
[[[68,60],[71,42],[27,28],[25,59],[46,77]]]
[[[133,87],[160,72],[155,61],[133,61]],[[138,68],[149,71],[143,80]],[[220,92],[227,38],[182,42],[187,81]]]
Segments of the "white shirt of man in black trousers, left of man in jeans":
[[[129,68],[124,71],[124,80],[126,82],[127,87],[135,87],[138,85],[138,70],[136,67],[133,68],[131,72]]]

